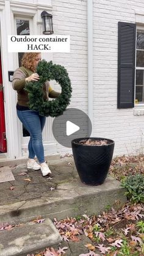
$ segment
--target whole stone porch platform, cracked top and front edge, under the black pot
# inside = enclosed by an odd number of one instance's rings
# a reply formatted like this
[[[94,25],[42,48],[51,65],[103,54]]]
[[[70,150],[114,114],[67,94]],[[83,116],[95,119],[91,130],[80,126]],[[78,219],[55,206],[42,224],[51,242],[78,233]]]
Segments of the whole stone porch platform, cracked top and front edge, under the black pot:
[[[101,186],[84,185],[71,157],[51,160],[49,167],[52,178],[43,177],[40,170],[27,170],[26,164],[12,170],[15,180],[0,184],[0,223],[24,222],[37,216],[59,220],[99,214],[116,201],[119,207],[126,202],[125,189],[110,176]],[[26,175],[21,175],[23,172]]]

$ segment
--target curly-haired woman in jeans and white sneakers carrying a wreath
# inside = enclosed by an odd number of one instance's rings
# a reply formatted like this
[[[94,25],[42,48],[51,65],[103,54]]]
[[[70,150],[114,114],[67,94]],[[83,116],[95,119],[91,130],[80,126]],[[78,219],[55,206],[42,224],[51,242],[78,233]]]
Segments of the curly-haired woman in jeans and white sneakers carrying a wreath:
[[[17,68],[13,74],[12,86],[17,91],[18,102],[16,104],[16,112],[18,118],[23,123],[24,127],[30,133],[28,144],[29,159],[27,168],[38,170],[41,169],[42,175],[51,174],[48,165],[45,163],[44,148],[42,142],[42,131],[45,126],[46,117],[39,115],[38,111],[32,111],[28,107],[28,93],[24,90],[26,82],[38,81],[39,76],[35,73],[38,62],[41,60],[40,53],[24,53],[21,60],[22,67]],[[43,97],[57,98],[60,93],[55,92],[49,86],[49,82],[45,82],[43,86]],[[39,164],[35,161],[37,156]]]

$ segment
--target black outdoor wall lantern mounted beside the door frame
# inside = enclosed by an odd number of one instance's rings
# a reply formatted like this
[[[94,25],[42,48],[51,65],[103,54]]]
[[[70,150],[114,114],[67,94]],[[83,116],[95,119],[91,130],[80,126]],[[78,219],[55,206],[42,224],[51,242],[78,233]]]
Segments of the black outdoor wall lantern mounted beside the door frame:
[[[41,12],[41,18],[43,20],[43,34],[53,34],[54,31],[52,27],[52,15],[44,10],[43,12]]]

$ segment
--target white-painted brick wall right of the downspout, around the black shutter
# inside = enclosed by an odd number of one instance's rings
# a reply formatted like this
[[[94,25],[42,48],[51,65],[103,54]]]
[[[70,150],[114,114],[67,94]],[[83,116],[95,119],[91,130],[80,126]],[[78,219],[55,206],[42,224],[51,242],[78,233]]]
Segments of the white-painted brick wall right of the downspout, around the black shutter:
[[[115,155],[140,153],[144,146],[144,116],[117,109],[118,21],[135,23],[139,8],[143,0],[93,1],[93,136],[113,139]]]

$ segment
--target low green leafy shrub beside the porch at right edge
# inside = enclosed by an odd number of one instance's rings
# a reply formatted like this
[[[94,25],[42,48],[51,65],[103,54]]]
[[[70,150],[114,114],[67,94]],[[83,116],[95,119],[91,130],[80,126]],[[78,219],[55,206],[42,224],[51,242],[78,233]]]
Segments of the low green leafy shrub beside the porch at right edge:
[[[125,194],[130,202],[144,203],[144,175],[130,175],[121,181],[121,186],[128,190]]]

